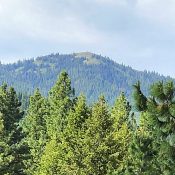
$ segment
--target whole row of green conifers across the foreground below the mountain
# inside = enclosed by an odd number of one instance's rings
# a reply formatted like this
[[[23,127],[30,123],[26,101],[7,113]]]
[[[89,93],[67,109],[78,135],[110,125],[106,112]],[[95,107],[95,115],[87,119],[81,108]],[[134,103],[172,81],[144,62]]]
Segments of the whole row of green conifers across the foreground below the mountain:
[[[87,105],[62,72],[48,97],[39,89],[24,115],[14,88],[0,87],[0,174],[175,174],[174,84],[158,82],[146,97],[134,85],[135,120],[125,95]]]

